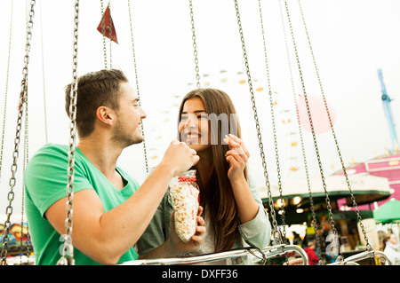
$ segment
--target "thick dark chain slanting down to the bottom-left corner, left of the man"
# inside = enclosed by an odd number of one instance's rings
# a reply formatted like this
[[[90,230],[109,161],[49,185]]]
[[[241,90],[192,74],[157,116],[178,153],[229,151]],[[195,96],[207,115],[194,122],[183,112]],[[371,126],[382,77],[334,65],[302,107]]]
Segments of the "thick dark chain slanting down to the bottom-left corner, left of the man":
[[[9,244],[9,233],[10,233],[10,217],[12,216],[12,200],[14,200],[14,192],[13,188],[16,184],[15,175],[17,173],[17,160],[19,155],[19,147],[20,147],[20,130],[22,128],[22,116],[24,112],[24,104],[28,98],[28,63],[29,63],[29,51],[30,51],[30,40],[32,38],[32,28],[33,28],[33,17],[35,15],[35,0],[30,1],[30,11],[29,11],[29,20],[27,23],[27,43],[25,45],[25,57],[24,64],[25,66],[22,69],[22,81],[21,81],[21,91],[20,91],[20,101],[18,106],[18,118],[17,118],[17,127],[16,127],[16,135],[14,139],[14,151],[12,153],[12,177],[10,178],[10,192],[7,195],[8,206],[6,208],[6,220],[4,223],[4,237],[3,237],[3,247],[2,247],[2,262],[1,265],[6,265],[7,258],[7,248]]]

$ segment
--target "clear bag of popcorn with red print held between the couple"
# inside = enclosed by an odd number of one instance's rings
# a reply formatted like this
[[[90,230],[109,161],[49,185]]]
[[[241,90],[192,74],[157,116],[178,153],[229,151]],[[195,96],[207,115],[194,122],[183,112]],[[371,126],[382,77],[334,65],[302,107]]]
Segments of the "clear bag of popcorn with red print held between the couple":
[[[175,230],[185,243],[196,232],[199,190],[196,170],[189,170],[181,176],[173,177],[170,183],[172,207],[175,210]]]

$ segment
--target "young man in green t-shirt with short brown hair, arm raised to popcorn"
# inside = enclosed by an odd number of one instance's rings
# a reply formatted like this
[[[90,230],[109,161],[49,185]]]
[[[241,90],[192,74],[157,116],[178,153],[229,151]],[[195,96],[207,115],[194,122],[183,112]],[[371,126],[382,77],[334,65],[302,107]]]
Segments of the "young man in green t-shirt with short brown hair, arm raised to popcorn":
[[[69,109],[71,85],[66,88]],[[73,196],[76,264],[114,264],[138,258],[134,245],[147,228],[172,177],[190,169],[199,157],[188,145],[172,141],[160,164],[139,187],[116,167],[125,147],[143,141],[140,122],[146,114],[124,74],[101,70],[78,79]],[[56,264],[61,257],[67,201],[67,145],[44,145],[25,172],[26,210],[36,264]],[[199,211],[201,208],[199,209]],[[168,257],[193,250],[203,241],[204,219],[184,244],[170,240],[148,257]]]

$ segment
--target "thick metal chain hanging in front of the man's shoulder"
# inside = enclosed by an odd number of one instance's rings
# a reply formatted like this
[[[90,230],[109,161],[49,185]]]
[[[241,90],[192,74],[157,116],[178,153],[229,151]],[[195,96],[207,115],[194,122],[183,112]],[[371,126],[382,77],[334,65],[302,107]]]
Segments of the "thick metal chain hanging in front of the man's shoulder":
[[[77,100],[77,43],[78,43],[78,16],[79,0],[75,1],[75,20],[74,20],[74,52],[73,52],[73,82],[71,86],[71,95],[69,102],[69,146],[68,146],[68,185],[67,185],[67,218],[65,220],[66,234],[64,238],[63,254],[57,263],[58,265],[74,265],[74,247],[72,245],[72,214],[74,199],[74,176],[75,176],[75,144],[76,144],[76,100]],[[67,258],[68,256],[68,258]]]

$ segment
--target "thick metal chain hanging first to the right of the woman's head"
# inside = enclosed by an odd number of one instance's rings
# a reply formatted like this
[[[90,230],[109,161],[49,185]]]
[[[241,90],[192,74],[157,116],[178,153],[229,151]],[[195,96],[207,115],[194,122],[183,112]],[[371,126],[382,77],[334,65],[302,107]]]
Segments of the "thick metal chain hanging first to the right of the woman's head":
[[[272,200],[272,193],[270,189],[270,184],[268,180],[268,170],[267,170],[267,163],[265,161],[265,153],[264,153],[264,145],[262,143],[262,138],[261,138],[261,132],[260,132],[260,123],[259,123],[259,116],[257,114],[257,107],[255,104],[255,98],[254,98],[254,91],[252,88],[252,77],[250,75],[250,67],[249,67],[249,62],[247,59],[247,53],[244,45],[244,35],[243,35],[243,29],[242,29],[242,22],[240,20],[240,14],[239,14],[239,6],[237,4],[237,0],[235,0],[235,9],[236,9],[236,19],[237,19],[237,25],[239,27],[239,34],[240,34],[240,40],[242,42],[242,50],[243,50],[243,56],[244,56],[244,65],[246,67],[246,75],[247,75],[247,80],[249,83],[249,88],[250,88],[250,96],[252,99],[252,111],[254,114],[254,121],[256,124],[256,130],[257,130],[257,138],[259,139],[259,147],[260,147],[260,156],[261,156],[261,161],[262,161],[262,167],[264,169],[264,177],[266,180],[266,186],[267,186],[267,191],[268,191],[268,204],[270,208],[270,213],[272,217],[272,225],[274,227],[274,234],[276,234],[276,239],[279,240],[279,242],[283,243],[282,236],[277,228],[277,222],[276,222],[276,213],[274,209],[274,202]]]

